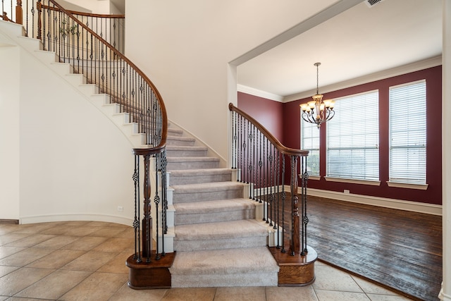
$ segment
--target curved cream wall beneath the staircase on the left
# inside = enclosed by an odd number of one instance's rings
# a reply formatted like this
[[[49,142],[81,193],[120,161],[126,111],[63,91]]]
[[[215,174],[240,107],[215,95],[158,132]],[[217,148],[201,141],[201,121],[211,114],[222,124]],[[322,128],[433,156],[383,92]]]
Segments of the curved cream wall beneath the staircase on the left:
[[[17,70],[0,82],[0,219],[131,225],[134,161],[127,137],[22,47],[0,53]]]

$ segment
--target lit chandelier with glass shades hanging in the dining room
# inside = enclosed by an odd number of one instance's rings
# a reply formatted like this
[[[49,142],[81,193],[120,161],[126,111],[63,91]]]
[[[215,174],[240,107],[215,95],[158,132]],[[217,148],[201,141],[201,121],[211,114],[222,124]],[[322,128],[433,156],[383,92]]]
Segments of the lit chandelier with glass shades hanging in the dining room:
[[[312,96],[313,100],[307,102],[307,104],[299,105],[302,109],[302,119],[309,123],[316,123],[316,126],[319,128],[321,123],[325,123],[326,121],[330,121],[332,117],[335,115],[335,111],[333,111],[333,105],[335,102],[331,99],[323,100],[323,94],[319,94],[318,90],[318,66],[321,63],[314,63],[316,66],[316,94]]]

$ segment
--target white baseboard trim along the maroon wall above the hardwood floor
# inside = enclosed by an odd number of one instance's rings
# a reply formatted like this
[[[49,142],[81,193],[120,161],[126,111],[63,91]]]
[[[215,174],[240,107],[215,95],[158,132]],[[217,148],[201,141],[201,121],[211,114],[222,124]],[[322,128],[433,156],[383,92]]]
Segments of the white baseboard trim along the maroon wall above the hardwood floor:
[[[289,189],[290,187],[288,186],[288,191]],[[298,193],[300,193],[300,190],[298,190]],[[307,195],[311,195],[313,197],[325,197],[328,199],[338,199],[339,201],[354,202],[391,209],[414,211],[424,214],[433,214],[440,216],[442,215],[441,205],[404,201],[402,199],[388,199],[385,197],[372,197],[370,195],[355,195],[352,193],[319,190],[314,188],[307,188]]]

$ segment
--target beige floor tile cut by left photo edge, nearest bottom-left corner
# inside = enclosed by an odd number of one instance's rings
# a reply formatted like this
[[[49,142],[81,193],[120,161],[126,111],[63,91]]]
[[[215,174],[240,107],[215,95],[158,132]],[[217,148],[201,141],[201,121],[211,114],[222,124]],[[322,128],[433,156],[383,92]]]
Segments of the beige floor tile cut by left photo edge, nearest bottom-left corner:
[[[52,269],[22,268],[0,278],[0,295],[12,296],[54,272]]]

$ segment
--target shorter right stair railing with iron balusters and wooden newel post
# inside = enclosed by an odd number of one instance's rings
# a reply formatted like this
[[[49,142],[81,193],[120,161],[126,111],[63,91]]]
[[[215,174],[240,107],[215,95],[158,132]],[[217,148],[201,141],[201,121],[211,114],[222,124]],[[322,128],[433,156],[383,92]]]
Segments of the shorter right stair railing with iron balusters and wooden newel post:
[[[229,104],[229,109],[232,111],[232,168],[238,171],[237,180],[249,184],[249,199],[264,204],[263,220],[276,231],[276,247],[280,252],[287,252],[285,244],[288,243],[290,254],[304,256],[309,221],[306,190],[309,152],[283,146],[247,113],[233,104]],[[286,199],[286,178],[290,183],[290,202]]]

